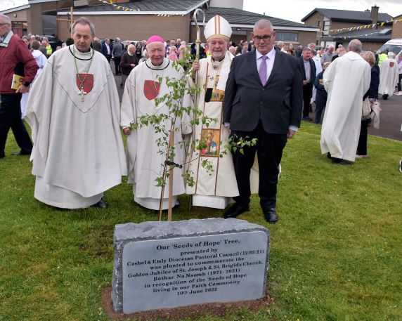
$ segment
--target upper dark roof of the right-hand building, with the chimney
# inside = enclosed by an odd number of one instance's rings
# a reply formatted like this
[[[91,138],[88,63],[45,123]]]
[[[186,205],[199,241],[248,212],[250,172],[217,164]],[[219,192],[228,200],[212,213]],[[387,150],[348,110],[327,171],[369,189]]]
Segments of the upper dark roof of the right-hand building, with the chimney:
[[[339,9],[325,9],[325,8],[315,8],[311,13],[306,15],[301,21],[305,21],[311,17],[314,13],[321,13],[330,20],[344,21],[344,22],[363,22],[370,23],[371,11],[350,11],[350,10],[339,10]],[[388,13],[378,13],[377,22],[386,22],[391,20],[392,16]]]

